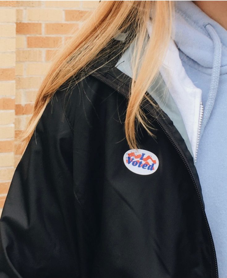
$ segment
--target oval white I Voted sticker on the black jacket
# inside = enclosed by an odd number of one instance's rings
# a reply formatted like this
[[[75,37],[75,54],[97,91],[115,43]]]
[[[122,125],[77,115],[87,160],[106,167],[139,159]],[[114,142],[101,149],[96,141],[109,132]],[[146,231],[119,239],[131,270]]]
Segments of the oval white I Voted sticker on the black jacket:
[[[159,165],[158,158],[148,150],[128,150],[123,157],[125,166],[139,175],[153,174]]]

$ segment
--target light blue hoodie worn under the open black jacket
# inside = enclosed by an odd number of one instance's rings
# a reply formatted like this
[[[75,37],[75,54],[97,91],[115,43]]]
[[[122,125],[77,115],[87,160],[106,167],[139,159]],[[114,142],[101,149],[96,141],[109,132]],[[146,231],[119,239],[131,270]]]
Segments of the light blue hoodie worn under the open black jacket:
[[[227,277],[227,30],[192,1],[175,1],[174,41],[186,74],[202,90],[204,107],[197,168],[211,228],[220,278]],[[130,50],[115,65],[131,76]],[[161,89],[162,90],[162,89]],[[152,92],[152,87],[148,89]],[[163,103],[152,95],[173,120],[191,151],[186,129],[171,95]],[[198,125],[198,123],[195,123]],[[193,205],[193,204],[192,204]]]

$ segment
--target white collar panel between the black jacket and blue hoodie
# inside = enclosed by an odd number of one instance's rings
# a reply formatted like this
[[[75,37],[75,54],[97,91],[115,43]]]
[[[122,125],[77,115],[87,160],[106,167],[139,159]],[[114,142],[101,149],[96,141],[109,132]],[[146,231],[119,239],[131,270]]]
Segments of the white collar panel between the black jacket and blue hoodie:
[[[148,22],[147,30],[151,36],[150,22]],[[160,73],[181,113],[195,158],[202,90],[197,88],[186,74],[178,49],[172,39]]]

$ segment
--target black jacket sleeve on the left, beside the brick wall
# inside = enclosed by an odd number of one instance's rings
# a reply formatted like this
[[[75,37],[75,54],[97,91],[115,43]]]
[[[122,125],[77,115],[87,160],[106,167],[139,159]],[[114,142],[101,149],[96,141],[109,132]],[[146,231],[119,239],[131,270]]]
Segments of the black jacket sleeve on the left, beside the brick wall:
[[[1,278],[79,276],[72,148],[73,132],[54,96],[6,196],[0,219]]]

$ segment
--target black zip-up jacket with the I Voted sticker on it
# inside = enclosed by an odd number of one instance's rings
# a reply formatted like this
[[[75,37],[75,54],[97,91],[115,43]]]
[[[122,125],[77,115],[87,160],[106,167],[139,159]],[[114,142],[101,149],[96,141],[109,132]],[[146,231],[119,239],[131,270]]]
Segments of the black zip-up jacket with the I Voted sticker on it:
[[[131,78],[118,59],[60,88],[45,108],[2,211],[1,278],[218,277],[193,158],[148,101],[156,138],[141,125],[137,138],[159,165],[143,175],[123,161],[136,157],[124,132]]]

